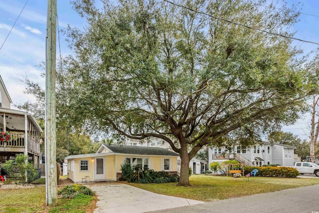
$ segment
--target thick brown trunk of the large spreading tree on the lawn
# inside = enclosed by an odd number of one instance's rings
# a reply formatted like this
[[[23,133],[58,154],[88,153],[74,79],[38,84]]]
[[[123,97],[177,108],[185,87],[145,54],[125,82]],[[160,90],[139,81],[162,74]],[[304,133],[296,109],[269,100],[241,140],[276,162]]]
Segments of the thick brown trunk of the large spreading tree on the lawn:
[[[187,144],[181,146],[180,152],[180,176],[177,186],[190,186],[189,184],[189,157],[187,152]]]

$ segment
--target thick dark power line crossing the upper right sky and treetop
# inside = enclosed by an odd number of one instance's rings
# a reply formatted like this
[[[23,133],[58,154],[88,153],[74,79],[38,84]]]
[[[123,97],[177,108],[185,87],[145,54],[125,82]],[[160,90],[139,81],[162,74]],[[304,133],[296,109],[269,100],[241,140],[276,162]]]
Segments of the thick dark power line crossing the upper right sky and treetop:
[[[244,26],[244,27],[247,27],[247,28],[249,28],[249,29],[259,30],[259,31],[266,32],[266,33],[269,33],[269,34],[278,35],[278,36],[282,36],[282,37],[285,37],[285,38],[290,38],[290,39],[294,39],[294,40],[299,40],[299,41],[303,41],[303,42],[307,42],[307,43],[314,43],[314,44],[319,45],[319,43],[316,43],[316,42],[313,42],[313,41],[306,41],[306,40],[302,40],[302,39],[299,39],[299,38],[294,38],[294,37],[290,37],[290,36],[278,34],[278,33],[275,33],[275,32],[269,32],[269,31],[266,31],[266,30],[263,30],[263,29],[259,29],[259,28],[255,28],[255,27],[252,27],[252,26],[248,26],[248,25],[245,25],[245,24],[242,24],[242,23],[233,22],[233,21],[227,20],[227,19],[225,19],[225,18],[220,18],[220,17],[213,16],[213,15],[210,15],[210,14],[205,13],[205,12],[201,12],[201,11],[197,11],[197,10],[195,10],[195,9],[191,9],[191,8],[189,8],[189,7],[187,7],[187,6],[179,5],[179,4],[174,3],[174,2],[171,2],[171,1],[169,1],[169,0],[164,0],[164,1],[166,1],[166,2],[168,2],[168,3],[171,3],[171,4],[175,5],[175,6],[179,6],[179,7],[183,7],[183,8],[185,8],[185,9],[191,10],[191,11],[193,11],[193,12],[197,12],[197,13],[201,13],[201,14],[204,14],[204,15],[208,15],[208,16],[210,16],[210,17],[212,17],[212,18],[216,18],[216,19],[220,19],[220,20],[226,21],[226,22],[228,22],[228,23],[232,23],[232,24]]]

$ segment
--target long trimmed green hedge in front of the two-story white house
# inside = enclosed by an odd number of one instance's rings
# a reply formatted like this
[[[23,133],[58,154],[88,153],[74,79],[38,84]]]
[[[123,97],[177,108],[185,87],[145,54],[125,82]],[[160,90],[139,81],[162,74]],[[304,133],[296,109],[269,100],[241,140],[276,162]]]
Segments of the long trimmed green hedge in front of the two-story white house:
[[[247,175],[254,169],[258,170],[257,176],[262,177],[296,178],[299,176],[298,170],[291,167],[244,167],[244,174]]]

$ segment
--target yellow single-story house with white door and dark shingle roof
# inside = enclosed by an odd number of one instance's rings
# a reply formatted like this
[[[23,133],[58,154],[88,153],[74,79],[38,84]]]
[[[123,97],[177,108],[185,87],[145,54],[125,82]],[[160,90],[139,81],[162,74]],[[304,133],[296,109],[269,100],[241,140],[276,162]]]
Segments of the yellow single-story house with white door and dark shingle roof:
[[[125,160],[133,168],[177,172],[179,154],[157,147],[102,144],[96,153],[71,155],[67,160],[68,178],[75,183],[117,181]]]

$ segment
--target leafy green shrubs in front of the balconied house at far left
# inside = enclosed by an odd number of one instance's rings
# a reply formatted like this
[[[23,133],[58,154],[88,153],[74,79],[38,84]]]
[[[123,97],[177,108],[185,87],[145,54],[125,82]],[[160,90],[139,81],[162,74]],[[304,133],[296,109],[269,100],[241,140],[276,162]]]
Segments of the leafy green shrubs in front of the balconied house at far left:
[[[16,176],[13,173],[13,169],[15,167],[13,160],[6,161],[4,164],[2,164],[2,167],[6,173],[10,174],[11,177],[21,179],[23,183],[25,182],[25,179],[26,179],[25,173],[27,171],[27,182],[31,183],[32,181],[38,178],[38,172],[33,168],[33,165],[31,163],[29,162],[25,163],[27,158],[28,157],[22,153],[16,154],[15,156],[15,162],[16,162],[16,167],[18,168],[18,171],[19,171],[19,176]]]

